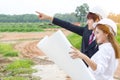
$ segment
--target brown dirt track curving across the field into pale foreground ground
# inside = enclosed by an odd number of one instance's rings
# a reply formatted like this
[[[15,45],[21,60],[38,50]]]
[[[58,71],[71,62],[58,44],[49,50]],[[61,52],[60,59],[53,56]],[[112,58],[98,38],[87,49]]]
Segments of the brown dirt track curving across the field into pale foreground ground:
[[[66,30],[62,31],[65,35],[70,33]],[[37,43],[44,36],[50,36],[54,32],[56,32],[56,30],[31,33],[0,33],[0,42],[14,43],[14,48],[20,53],[19,57],[32,59],[36,63],[36,66],[33,68],[38,70],[38,72],[33,75],[40,76],[42,78],[41,80],[66,80],[67,74],[60,70],[54,62],[52,62],[42,51],[37,48]]]

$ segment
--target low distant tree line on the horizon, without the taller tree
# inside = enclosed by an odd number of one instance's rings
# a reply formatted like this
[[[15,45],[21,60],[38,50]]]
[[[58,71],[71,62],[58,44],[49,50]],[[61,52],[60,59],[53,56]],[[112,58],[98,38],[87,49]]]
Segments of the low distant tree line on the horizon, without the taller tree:
[[[75,13],[70,13],[70,14],[57,13],[54,16],[68,22],[78,22],[78,18],[75,16]],[[23,14],[23,15],[0,14],[0,22],[26,23],[26,22],[49,22],[49,21],[39,20],[37,15],[35,14]]]

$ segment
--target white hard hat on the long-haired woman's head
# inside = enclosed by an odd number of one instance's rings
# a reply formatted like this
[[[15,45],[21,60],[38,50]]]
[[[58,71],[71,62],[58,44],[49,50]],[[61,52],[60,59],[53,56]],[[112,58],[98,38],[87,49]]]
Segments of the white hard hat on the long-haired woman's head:
[[[96,27],[97,24],[108,25],[110,27],[110,29],[112,28],[112,30],[110,30],[110,31],[112,33],[114,31],[114,34],[117,35],[117,25],[113,20],[104,18],[104,19],[101,19],[100,21],[98,21],[97,23],[93,24],[93,26]]]

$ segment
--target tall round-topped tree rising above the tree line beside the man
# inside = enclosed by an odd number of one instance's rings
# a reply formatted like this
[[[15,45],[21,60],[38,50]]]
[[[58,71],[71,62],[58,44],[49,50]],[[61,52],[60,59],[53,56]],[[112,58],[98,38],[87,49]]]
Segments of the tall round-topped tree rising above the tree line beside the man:
[[[89,12],[89,6],[87,3],[84,3],[81,6],[78,6],[75,10],[76,16],[79,17],[80,22],[85,22],[86,21],[86,15]]]

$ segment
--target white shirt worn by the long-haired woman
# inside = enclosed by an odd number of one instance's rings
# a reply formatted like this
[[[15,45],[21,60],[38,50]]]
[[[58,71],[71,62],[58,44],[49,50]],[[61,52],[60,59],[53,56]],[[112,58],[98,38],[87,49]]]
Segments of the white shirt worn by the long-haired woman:
[[[99,46],[97,51],[91,59],[97,64],[97,69],[93,71],[96,80],[113,80],[114,72],[116,70],[115,51],[111,43],[104,43]]]

